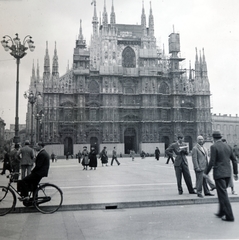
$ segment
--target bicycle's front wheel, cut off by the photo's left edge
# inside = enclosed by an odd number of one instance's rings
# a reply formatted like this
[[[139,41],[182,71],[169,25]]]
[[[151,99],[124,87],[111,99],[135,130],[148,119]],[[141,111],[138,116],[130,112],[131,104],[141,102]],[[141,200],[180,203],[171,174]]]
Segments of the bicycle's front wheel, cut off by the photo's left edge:
[[[0,186],[0,216],[11,212],[16,206],[17,198],[12,189]]]

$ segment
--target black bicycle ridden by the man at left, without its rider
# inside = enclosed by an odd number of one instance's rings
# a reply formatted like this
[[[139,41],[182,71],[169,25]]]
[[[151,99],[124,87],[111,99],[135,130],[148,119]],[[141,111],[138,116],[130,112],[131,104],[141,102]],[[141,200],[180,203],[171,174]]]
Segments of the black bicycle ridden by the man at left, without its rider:
[[[12,185],[17,182],[14,175],[19,173],[10,173],[7,178],[7,186],[0,186],[0,216],[4,216],[16,207],[17,195],[21,199],[20,193]],[[17,195],[16,195],[17,194]],[[30,191],[28,198],[22,203],[25,207],[34,206],[39,212],[49,214],[56,212],[62,205],[63,193],[59,187],[52,183],[39,183],[37,189]]]

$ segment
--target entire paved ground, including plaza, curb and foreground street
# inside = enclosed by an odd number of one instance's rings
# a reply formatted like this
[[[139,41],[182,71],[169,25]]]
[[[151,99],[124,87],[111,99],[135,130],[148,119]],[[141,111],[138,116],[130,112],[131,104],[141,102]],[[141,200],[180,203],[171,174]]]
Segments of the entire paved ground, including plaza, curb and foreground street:
[[[228,189],[235,222],[214,216],[218,201],[178,195],[172,163],[161,157],[119,158],[120,166],[83,171],[77,159],[51,163],[42,182],[58,185],[62,208],[50,215],[32,212],[17,203],[14,213],[0,217],[1,240],[93,239],[238,239],[239,198]],[[191,176],[195,174],[188,157]],[[7,183],[0,176],[0,185]],[[184,182],[183,182],[184,184]],[[239,192],[239,184],[235,182]]]

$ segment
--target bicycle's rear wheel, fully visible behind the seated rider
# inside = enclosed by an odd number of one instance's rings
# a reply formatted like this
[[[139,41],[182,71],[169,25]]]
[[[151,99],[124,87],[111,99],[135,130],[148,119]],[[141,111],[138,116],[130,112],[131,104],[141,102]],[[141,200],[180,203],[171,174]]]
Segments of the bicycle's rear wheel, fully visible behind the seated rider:
[[[45,183],[35,191],[33,202],[39,212],[54,213],[62,205],[63,193],[56,185]]]

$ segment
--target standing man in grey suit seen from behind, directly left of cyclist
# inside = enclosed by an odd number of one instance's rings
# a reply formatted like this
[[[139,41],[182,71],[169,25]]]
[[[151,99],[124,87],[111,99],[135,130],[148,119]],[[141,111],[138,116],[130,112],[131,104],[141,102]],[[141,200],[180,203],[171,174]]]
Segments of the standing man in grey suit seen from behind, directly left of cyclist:
[[[19,150],[18,156],[20,157],[22,179],[31,173],[34,161],[34,152],[30,147],[29,140],[25,141],[25,146]]]

